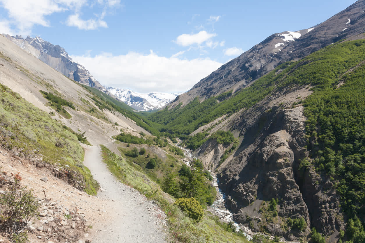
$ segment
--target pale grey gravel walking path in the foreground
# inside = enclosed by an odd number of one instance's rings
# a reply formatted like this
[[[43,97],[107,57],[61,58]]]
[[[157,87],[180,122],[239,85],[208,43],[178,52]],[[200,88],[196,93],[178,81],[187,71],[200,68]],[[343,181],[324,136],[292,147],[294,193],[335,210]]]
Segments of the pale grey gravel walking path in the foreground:
[[[86,146],[84,164],[100,183],[97,196],[109,211],[94,223],[93,242],[165,242],[157,205],[137,190],[118,182],[101,160],[98,146]],[[105,222],[107,220],[107,222]],[[163,221],[163,220],[162,220]]]

